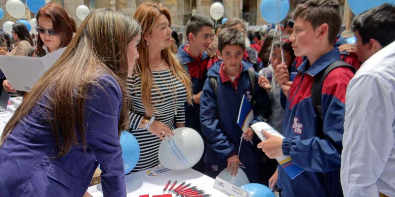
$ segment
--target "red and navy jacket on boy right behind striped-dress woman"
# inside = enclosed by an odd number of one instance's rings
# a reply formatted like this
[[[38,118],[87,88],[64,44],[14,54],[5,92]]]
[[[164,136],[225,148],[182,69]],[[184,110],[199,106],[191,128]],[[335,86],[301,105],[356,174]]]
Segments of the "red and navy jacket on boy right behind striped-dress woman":
[[[209,57],[207,56],[206,52],[202,52],[200,57],[195,59],[190,54],[188,54],[186,50],[187,47],[188,45],[180,46],[177,56],[191,76],[193,94],[196,95],[203,89],[204,81],[207,78],[207,63]],[[201,133],[199,109],[200,105],[197,103],[194,103],[193,106],[188,103],[185,104],[185,126],[195,129]]]

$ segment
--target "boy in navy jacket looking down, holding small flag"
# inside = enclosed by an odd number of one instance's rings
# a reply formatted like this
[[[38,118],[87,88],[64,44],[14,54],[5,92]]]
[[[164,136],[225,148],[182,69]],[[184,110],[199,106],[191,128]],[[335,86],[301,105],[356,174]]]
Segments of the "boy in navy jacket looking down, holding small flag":
[[[254,119],[250,124],[261,122],[271,114],[269,96],[257,84],[255,73],[255,91],[252,91],[248,69],[252,64],[242,61],[245,49],[244,34],[234,28],[223,29],[218,36],[217,54],[222,62],[215,63],[208,71],[200,98],[200,123],[207,138],[205,153],[205,173],[215,177],[223,169],[230,170],[236,176],[239,165],[244,165],[250,182],[259,182],[259,149],[250,142],[254,132],[251,128],[241,131],[237,125],[237,116],[243,95],[250,101]],[[216,93],[210,83],[210,77],[217,82]],[[252,94],[254,93],[254,94]],[[240,137],[243,136],[240,153]]]

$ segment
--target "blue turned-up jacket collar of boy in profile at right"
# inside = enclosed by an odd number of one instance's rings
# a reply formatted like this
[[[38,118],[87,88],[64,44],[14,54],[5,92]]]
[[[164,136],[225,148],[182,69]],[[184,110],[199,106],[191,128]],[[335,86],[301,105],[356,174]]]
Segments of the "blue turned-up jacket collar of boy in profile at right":
[[[310,76],[315,76],[321,70],[325,69],[327,66],[335,62],[336,60],[340,60],[340,52],[337,47],[333,48],[328,53],[325,53],[323,56],[319,57],[316,62],[311,65],[307,70],[306,67],[310,64],[309,60],[306,58],[305,61],[298,67],[298,71],[306,72]]]

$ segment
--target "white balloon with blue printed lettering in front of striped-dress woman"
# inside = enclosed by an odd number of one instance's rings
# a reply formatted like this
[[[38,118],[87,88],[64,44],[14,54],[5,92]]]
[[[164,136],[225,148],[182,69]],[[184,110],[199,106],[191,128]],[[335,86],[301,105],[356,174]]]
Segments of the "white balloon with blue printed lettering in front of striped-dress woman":
[[[173,170],[187,169],[200,160],[204,144],[200,134],[191,128],[177,128],[174,136],[159,145],[159,162]]]

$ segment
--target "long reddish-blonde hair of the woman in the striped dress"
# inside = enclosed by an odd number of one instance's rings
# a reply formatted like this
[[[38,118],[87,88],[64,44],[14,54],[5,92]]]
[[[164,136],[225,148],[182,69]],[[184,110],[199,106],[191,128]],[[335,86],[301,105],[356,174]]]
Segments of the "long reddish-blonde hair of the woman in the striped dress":
[[[171,25],[170,13],[166,8],[159,7],[158,4],[153,2],[144,2],[137,7],[133,18],[140,23],[142,33],[141,37],[145,37],[145,35],[151,33],[156,20],[161,14],[166,16]],[[148,46],[145,42],[139,43],[138,52],[140,57],[137,59],[137,65],[139,65],[140,69],[136,70],[136,74],[141,75],[141,97],[146,111],[145,115],[147,117],[152,117],[154,113],[151,95],[153,74],[149,66],[150,54],[148,51]],[[172,74],[177,77],[178,80],[181,81],[181,83],[185,86],[188,95],[187,101],[192,103],[192,83],[189,74],[181,66],[177,57],[172,53],[171,47],[163,49],[161,51],[161,56],[170,67]]]

